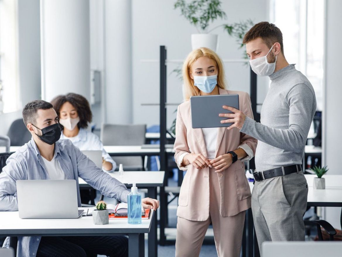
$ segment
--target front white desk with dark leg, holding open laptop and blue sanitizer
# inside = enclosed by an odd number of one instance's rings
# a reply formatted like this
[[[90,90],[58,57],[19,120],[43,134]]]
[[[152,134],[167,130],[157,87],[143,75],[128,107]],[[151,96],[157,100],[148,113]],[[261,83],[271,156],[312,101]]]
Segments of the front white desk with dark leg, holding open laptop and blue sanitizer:
[[[80,208],[82,209],[82,208]],[[84,209],[84,208],[83,208]],[[149,233],[154,211],[142,224],[126,219],[109,219],[107,225],[94,225],[91,216],[78,219],[21,219],[18,211],[0,211],[0,234],[4,236],[96,236],[128,235],[129,256],[144,256],[144,233]]]

